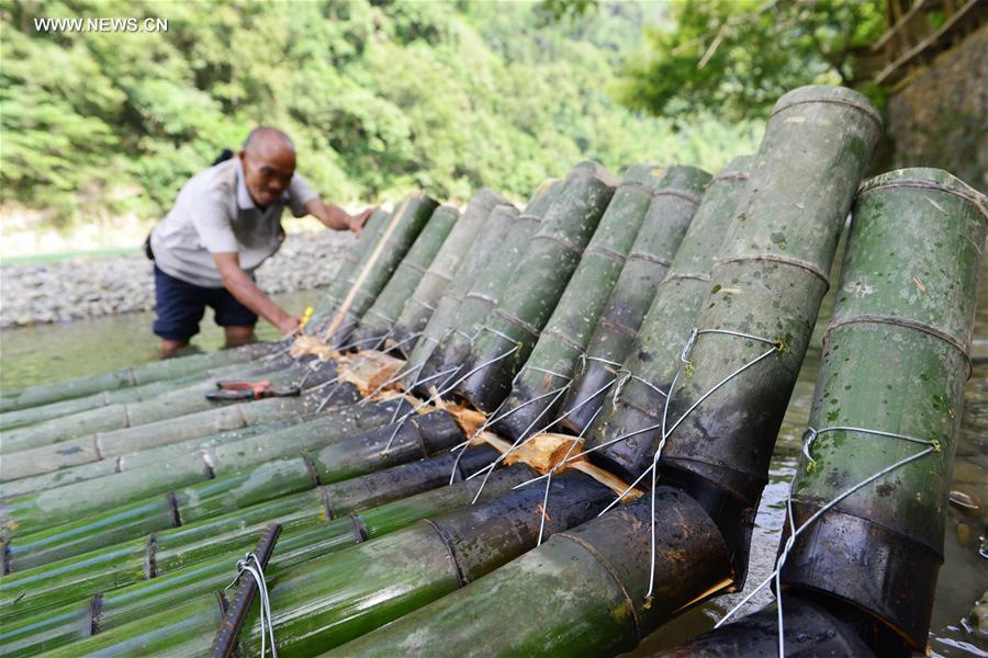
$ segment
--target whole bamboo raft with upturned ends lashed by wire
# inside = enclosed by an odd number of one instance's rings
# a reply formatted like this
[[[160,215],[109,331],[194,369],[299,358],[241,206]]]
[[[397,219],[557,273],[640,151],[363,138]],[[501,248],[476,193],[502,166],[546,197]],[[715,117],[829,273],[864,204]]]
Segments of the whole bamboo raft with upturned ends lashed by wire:
[[[808,87],[712,175],[412,195],[303,336],[4,393],[0,650],[633,648],[744,587],[850,213],[776,604],[665,653],[922,651],[988,204],[932,169],[862,183],[880,132]],[[205,398],[231,377],[301,394]]]

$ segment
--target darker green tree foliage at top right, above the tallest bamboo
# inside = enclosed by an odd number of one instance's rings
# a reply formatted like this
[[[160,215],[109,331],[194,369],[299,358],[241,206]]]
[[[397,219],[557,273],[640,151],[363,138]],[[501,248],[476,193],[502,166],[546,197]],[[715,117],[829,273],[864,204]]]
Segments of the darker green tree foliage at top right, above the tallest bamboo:
[[[795,87],[857,86],[855,58],[884,26],[879,0],[677,0],[672,25],[647,30],[619,97],[665,116],[761,117]]]

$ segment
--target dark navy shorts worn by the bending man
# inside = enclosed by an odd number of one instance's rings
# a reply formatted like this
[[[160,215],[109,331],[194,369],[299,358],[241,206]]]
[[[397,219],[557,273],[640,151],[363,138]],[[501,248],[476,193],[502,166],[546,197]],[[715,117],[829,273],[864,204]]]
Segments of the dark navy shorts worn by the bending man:
[[[207,288],[186,283],[155,265],[155,333],[167,340],[187,342],[199,333],[199,322],[210,306],[221,327],[252,327],[257,315],[240,304],[226,288]]]

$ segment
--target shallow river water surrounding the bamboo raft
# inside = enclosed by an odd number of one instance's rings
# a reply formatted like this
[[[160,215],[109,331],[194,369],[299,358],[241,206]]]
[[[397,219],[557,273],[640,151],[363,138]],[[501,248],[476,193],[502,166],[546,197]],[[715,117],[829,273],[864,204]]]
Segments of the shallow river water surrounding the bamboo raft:
[[[317,292],[307,291],[276,298],[287,308],[301,310],[317,296]],[[940,571],[930,637],[934,656],[988,657],[988,640],[966,631],[962,622],[978,598],[988,591],[988,559],[979,555],[981,537],[988,533],[988,264],[983,269],[978,300],[973,351],[975,366],[965,393],[952,489],[979,500],[980,509],[950,507],[946,560]],[[831,308],[832,295],[828,295],[772,458],[771,481],[759,509],[752,540],[745,591],[719,597],[692,610],[645,638],[632,655],[647,656],[712,628],[717,620],[772,571],[785,519],[786,491],[799,458],[800,436],[809,418],[820,364],[821,338]],[[10,390],[150,361],[156,358],[157,348],[157,339],[150,333],[151,319],[149,314],[134,314],[4,330],[0,340],[0,388]],[[209,318],[202,326],[203,333],[193,342],[203,350],[222,347],[222,331]],[[268,325],[259,325],[258,330],[262,340],[277,338],[277,332]],[[772,594],[766,589],[741,613],[754,611],[771,601]]]

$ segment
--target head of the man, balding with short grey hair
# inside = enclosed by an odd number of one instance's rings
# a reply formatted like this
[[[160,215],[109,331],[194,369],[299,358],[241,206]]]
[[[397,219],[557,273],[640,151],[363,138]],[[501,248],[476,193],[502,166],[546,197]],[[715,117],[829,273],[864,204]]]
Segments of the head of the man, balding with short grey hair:
[[[270,205],[284,194],[295,173],[295,146],[277,128],[250,131],[238,157],[247,191],[259,206]]]

